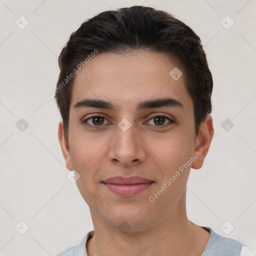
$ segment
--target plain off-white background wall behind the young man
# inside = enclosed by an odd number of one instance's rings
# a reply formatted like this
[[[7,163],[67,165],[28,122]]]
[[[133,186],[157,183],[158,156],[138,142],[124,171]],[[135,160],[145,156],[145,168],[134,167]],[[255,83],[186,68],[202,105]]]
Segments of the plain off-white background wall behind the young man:
[[[46,94],[70,33],[98,12],[134,4],[174,14],[208,54],[215,137],[204,166],[191,170],[188,216],[256,248],[255,0],[0,0],[0,255],[56,255],[93,229],[88,206],[66,177],[60,115]],[[221,20],[234,24],[226,29]],[[16,126],[21,118],[27,128]],[[221,126],[226,118],[234,124],[228,131]],[[224,227],[234,226],[229,234],[221,229],[226,220]]]

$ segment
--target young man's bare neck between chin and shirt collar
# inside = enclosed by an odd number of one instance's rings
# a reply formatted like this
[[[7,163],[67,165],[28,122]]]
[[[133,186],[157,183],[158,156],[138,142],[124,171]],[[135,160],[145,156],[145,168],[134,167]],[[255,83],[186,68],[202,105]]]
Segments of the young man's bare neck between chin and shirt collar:
[[[206,230],[187,219],[185,203],[150,227],[127,232],[113,228],[91,213],[94,235],[86,245],[88,256],[200,255],[209,238]]]

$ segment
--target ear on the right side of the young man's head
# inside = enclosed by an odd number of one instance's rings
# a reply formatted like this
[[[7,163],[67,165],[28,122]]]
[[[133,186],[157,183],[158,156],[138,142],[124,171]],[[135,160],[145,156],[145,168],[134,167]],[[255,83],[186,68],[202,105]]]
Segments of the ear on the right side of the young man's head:
[[[195,150],[194,155],[198,157],[193,161],[191,167],[193,169],[201,168],[203,160],[208,153],[210,142],[214,133],[212,117],[207,114],[206,118],[200,124],[199,132],[195,138]]]

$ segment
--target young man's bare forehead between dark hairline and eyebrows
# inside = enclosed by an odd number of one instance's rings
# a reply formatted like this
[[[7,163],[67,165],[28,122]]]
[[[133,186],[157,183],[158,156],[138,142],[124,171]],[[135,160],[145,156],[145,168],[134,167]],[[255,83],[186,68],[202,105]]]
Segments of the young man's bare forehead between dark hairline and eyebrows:
[[[163,97],[190,107],[192,101],[185,77],[180,75],[177,64],[165,54],[144,50],[121,54],[99,52],[75,75],[70,108],[84,98],[105,99],[120,109]]]

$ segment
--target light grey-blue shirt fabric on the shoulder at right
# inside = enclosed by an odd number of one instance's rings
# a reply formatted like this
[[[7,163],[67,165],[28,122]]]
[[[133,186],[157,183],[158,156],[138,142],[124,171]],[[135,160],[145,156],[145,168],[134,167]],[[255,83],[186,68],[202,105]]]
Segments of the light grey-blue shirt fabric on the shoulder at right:
[[[218,235],[209,227],[205,229],[210,232],[210,237],[201,256],[240,256],[243,247],[242,243],[235,239]]]

